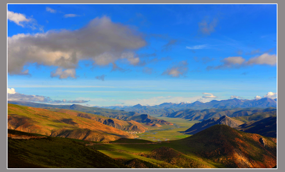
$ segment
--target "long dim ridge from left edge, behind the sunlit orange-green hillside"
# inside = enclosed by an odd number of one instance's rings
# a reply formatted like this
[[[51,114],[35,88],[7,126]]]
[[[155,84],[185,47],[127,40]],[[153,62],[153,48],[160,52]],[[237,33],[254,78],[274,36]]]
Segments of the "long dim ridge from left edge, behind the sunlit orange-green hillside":
[[[80,112],[85,112],[85,113],[90,113],[94,115],[100,115],[100,116],[115,118],[115,119],[120,119],[120,120],[133,120],[139,123],[152,123],[152,124],[158,123],[162,125],[173,125],[170,122],[160,120],[160,119],[151,117],[149,115],[145,115],[145,114],[141,115],[137,112],[126,112],[123,110],[104,109],[104,108],[98,108],[98,107],[87,107],[87,106],[76,105],[76,104],[48,105],[48,104],[33,103],[33,102],[26,102],[26,101],[8,101],[8,103],[29,106],[29,107],[44,108],[44,109],[49,109],[49,110],[54,110],[54,109],[75,110],[75,111],[80,111]]]

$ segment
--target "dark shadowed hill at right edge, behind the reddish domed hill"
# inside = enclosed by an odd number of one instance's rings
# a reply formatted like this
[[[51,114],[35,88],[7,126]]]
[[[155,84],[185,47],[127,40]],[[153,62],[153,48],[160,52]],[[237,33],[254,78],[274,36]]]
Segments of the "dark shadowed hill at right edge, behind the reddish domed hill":
[[[267,137],[277,137],[277,117],[272,116],[258,121],[250,121],[236,127],[236,129]]]

